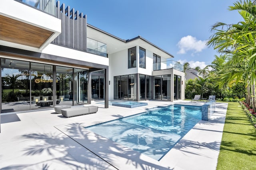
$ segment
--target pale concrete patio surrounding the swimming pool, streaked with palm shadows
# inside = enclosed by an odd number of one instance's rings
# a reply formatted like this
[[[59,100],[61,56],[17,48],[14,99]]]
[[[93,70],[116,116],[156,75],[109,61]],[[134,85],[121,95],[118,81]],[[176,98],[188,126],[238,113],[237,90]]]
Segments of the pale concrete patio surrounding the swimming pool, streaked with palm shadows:
[[[146,101],[126,108],[93,103],[98,112],[66,118],[54,109],[1,114],[0,170],[215,170],[228,104],[216,103],[210,121],[199,121],[160,161],[84,127],[145,109],[190,101]],[[192,103],[202,105],[203,103]]]

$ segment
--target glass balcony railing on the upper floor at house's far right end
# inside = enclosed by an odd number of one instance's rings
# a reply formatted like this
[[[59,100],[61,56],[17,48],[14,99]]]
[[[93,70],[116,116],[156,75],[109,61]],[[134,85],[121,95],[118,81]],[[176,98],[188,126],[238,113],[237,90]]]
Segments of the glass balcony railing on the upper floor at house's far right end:
[[[153,70],[164,70],[164,69],[170,69],[173,68],[175,70],[179,70],[182,71],[184,70],[183,65],[173,61],[173,60],[169,60],[169,61],[163,61],[163,62],[159,62],[159,63],[153,63]]]

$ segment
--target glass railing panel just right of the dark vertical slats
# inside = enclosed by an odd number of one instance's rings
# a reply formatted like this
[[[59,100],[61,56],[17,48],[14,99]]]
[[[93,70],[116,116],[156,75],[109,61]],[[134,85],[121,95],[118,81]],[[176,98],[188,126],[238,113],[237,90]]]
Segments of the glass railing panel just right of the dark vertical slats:
[[[87,52],[107,57],[107,45],[94,39],[87,38]]]

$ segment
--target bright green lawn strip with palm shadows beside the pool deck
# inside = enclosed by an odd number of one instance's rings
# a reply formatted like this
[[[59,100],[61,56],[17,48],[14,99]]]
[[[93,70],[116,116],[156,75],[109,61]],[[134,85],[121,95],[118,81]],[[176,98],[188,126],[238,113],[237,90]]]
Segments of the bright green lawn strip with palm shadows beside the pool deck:
[[[217,170],[256,170],[256,128],[236,102],[228,102]]]

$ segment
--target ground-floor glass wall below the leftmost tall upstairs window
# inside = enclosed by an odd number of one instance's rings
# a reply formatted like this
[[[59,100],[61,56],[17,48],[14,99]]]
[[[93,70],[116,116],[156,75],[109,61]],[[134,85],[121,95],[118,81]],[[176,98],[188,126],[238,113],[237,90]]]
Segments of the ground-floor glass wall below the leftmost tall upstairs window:
[[[135,74],[114,77],[114,99],[137,100],[136,83]]]

